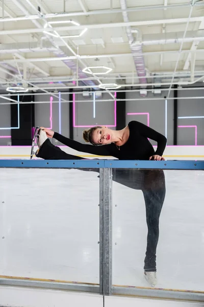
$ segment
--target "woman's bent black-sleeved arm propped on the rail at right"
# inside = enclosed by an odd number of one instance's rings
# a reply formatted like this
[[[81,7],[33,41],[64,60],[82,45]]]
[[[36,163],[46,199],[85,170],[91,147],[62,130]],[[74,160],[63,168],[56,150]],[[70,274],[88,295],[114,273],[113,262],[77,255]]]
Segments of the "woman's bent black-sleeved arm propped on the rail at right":
[[[154,140],[157,142],[157,150],[155,152],[155,155],[159,155],[162,157],[164,149],[166,147],[166,142],[167,139],[165,136],[157,132],[156,130],[140,123],[140,122],[135,122],[136,123],[136,128],[139,130],[139,133],[151,140]]]

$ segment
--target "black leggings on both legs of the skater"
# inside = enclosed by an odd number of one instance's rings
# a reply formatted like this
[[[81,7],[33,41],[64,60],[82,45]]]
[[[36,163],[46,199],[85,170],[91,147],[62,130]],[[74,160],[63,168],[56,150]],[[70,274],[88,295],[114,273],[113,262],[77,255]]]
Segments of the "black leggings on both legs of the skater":
[[[45,160],[82,160],[69,155],[47,139],[36,155]],[[81,169],[97,171],[98,169]],[[144,259],[146,272],[156,271],[156,250],[159,240],[159,217],[165,199],[165,177],[163,170],[113,169],[113,181],[135,190],[142,190],[146,207],[148,227],[147,248]]]

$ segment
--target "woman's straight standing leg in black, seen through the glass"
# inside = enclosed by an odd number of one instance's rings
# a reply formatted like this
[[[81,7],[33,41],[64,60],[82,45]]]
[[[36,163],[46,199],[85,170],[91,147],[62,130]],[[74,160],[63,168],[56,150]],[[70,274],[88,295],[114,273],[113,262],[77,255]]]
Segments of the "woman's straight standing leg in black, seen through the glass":
[[[165,199],[165,177],[163,170],[150,170],[145,174],[142,190],[146,206],[147,248],[144,270],[156,272],[156,251],[159,240],[159,218]]]

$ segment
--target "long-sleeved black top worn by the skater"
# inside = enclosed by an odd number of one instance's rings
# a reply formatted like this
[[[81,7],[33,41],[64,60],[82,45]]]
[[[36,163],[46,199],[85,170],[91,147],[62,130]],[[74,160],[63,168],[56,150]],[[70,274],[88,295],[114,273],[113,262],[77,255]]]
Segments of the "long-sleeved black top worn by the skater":
[[[72,149],[88,152],[93,155],[112,156],[119,160],[149,160],[149,157],[153,155],[163,155],[167,140],[162,134],[138,121],[131,121],[128,126],[130,129],[130,136],[124,145],[118,146],[120,150],[115,143],[98,146],[82,144],[63,137],[56,132],[53,138]],[[148,139],[157,141],[158,146],[156,152]]]

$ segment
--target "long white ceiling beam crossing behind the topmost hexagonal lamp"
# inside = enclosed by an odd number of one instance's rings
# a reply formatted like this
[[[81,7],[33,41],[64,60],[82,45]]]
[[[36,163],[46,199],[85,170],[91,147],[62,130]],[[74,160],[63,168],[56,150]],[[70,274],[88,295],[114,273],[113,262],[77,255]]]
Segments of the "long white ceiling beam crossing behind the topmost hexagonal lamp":
[[[14,0],[12,0],[14,1]],[[80,26],[64,26],[56,28],[46,28],[46,32],[66,31],[66,30],[83,30],[87,29],[103,29],[103,28],[120,28],[131,26],[148,26],[148,25],[162,25],[162,24],[186,24],[194,23],[196,21],[202,21],[203,16],[188,18],[171,18],[171,19],[156,19],[156,20],[143,20],[143,21],[130,21],[129,23],[110,23],[110,24],[92,24],[92,25],[80,25]],[[25,33],[42,33],[44,28],[35,29],[18,29],[18,30],[3,30],[0,31],[0,35],[11,34],[25,34]]]

